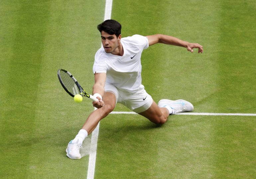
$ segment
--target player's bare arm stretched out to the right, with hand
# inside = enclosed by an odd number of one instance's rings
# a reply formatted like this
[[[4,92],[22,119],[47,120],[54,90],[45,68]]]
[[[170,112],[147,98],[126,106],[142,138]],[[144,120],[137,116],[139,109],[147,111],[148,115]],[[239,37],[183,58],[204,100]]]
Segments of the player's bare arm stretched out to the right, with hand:
[[[163,34],[148,35],[146,37],[148,37],[149,46],[156,43],[164,43],[168,45],[185,47],[190,52],[193,52],[193,48],[198,48],[198,53],[203,53],[203,46],[198,43],[189,43],[179,38]]]

